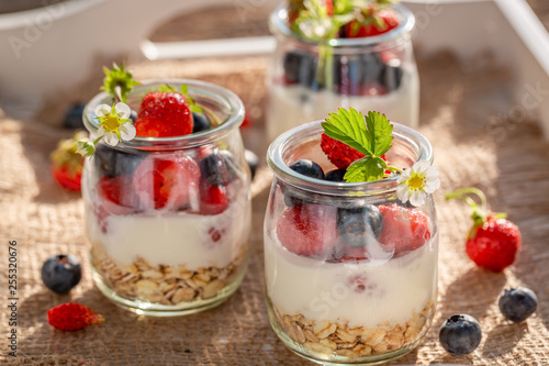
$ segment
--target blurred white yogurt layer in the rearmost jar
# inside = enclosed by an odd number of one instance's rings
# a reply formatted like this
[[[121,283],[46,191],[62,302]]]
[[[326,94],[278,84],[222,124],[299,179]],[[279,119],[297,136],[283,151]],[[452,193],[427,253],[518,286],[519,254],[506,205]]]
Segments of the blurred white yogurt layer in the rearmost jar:
[[[329,90],[313,91],[303,86],[272,85],[269,88],[267,136],[274,140],[300,124],[324,120],[338,108],[359,112],[379,111],[393,122],[416,127],[419,121],[419,77],[404,71],[402,85],[384,96],[341,96]]]

